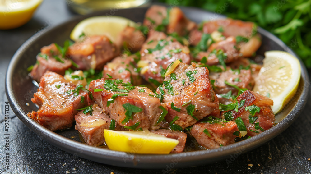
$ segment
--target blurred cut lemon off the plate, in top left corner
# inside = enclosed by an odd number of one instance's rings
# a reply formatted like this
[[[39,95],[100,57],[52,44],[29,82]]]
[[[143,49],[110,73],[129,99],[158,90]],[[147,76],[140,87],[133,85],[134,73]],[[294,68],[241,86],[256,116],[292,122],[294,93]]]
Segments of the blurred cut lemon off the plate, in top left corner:
[[[26,24],[43,0],[0,1],[0,30],[8,30]]]

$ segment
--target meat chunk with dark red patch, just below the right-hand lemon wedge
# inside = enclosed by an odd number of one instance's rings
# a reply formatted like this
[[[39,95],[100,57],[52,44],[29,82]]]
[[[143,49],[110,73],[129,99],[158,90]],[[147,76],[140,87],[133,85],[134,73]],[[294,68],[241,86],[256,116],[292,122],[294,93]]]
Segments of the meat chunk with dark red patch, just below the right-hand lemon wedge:
[[[238,112],[235,112],[234,110],[222,112],[221,117],[225,119],[231,118],[233,120],[237,117],[241,117],[247,129],[247,136],[257,135],[258,133],[261,133],[262,130],[265,131],[272,127],[275,118],[270,107],[273,105],[273,101],[271,99],[247,90],[240,94],[236,100],[233,101],[233,103],[241,103],[242,100],[245,101],[245,103],[242,102],[244,104],[238,109]],[[253,108],[246,108],[250,106],[253,106]],[[253,117],[250,110],[255,112]],[[251,118],[251,121],[249,118]]]

